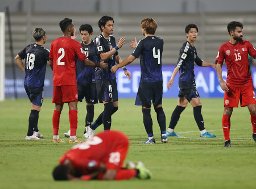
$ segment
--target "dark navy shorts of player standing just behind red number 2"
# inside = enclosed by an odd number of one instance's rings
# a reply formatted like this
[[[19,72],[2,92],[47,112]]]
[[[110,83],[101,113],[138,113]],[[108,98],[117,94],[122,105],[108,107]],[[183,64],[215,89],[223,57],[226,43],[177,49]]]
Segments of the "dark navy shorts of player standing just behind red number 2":
[[[97,104],[98,103],[98,95],[96,91],[95,83],[90,84],[82,84],[77,83],[77,91],[78,91],[78,100],[82,102],[82,99],[85,98],[87,103]]]

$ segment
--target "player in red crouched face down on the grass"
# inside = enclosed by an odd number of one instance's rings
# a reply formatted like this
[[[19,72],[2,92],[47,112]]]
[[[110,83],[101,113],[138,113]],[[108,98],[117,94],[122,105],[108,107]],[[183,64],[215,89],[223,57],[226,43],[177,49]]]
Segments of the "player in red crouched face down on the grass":
[[[124,180],[133,177],[150,179],[152,174],[142,162],[127,163],[123,168],[129,139],[119,131],[101,132],[73,146],[53,170],[55,180]],[[127,169],[129,168],[129,169]]]

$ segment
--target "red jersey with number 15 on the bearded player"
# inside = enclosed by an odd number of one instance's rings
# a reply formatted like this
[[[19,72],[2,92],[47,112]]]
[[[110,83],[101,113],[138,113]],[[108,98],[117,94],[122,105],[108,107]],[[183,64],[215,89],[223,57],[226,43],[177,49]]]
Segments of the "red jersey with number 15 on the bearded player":
[[[251,78],[248,54],[256,58],[256,49],[246,40],[242,40],[237,44],[226,42],[218,49],[216,64],[223,64],[224,60],[228,74],[226,82],[230,86],[247,86],[253,84]]]

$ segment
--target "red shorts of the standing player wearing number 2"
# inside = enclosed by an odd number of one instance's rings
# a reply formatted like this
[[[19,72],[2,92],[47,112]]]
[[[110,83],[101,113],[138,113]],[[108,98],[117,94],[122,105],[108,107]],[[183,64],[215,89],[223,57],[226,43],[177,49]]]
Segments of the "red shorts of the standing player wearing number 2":
[[[77,86],[63,85],[53,86],[52,103],[78,102]]]

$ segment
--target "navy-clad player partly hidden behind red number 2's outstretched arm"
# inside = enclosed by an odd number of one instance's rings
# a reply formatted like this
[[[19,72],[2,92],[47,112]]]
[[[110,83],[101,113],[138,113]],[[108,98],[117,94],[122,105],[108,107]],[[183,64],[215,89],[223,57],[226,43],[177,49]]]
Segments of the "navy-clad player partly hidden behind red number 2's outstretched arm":
[[[82,24],[79,28],[81,36],[81,45],[84,49],[86,57],[97,62],[96,51],[94,48],[93,40],[93,28],[90,24]],[[80,60],[76,62],[76,81],[78,90],[78,100],[82,102],[82,99],[86,100],[87,114],[85,117],[85,132],[84,137],[88,137],[88,127],[92,125],[94,117],[94,104],[98,103],[98,95],[95,85],[95,68],[85,66]],[[65,137],[70,136],[70,130],[64,133]]]

